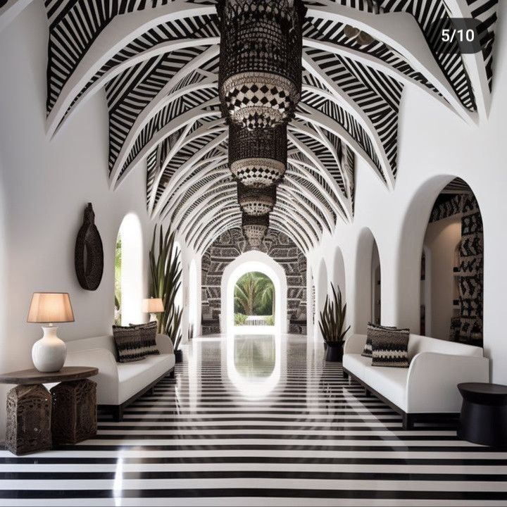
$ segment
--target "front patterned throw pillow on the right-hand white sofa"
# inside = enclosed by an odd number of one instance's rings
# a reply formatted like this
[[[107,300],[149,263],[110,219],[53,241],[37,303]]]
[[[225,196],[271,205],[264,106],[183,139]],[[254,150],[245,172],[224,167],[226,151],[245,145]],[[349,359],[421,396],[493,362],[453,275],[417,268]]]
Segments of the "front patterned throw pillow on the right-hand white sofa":
[[[408,329],[372,330],[372,366],[408,368]]]

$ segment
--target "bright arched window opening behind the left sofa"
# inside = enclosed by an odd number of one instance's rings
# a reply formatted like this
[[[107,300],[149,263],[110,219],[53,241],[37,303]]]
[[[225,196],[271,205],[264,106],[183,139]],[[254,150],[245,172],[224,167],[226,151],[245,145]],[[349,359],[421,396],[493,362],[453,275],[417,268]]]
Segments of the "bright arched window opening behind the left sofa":
[[[134,213],[125,215],[115,249],[115,323],[142,322],[142,230]]]

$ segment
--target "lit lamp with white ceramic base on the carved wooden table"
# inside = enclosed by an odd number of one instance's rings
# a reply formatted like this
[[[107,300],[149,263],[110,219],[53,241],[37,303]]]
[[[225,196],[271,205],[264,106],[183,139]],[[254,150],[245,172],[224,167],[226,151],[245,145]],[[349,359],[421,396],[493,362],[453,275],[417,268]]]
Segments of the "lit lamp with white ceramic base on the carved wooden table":
[[[32,347],[32,361],[39,372],[57,372],[65,363],[65,343],[56,336],[55,323],[74,322],[70,297],[66,292],[34,292],[27,322],[44,324],[44,336]]]

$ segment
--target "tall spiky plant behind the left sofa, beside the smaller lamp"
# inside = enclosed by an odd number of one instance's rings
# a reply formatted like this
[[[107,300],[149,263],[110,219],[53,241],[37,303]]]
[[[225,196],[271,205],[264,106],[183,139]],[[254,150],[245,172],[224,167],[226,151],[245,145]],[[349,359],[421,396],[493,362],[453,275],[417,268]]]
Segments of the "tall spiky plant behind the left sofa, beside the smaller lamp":
[[[157,234],[158,232],[158,234]],[[158,248],[156,237],[158,235]],[[175,255],[175,231],[171,228],[163,232],[163,226],[155,227],[149,263],[151,272],[151,295],[163,301],[165,310],[158,317],[157,332],[167,334],[173,342],[175,351],[182,338],[181,320],[183,308],[176,306],[175,298],[181,285],[182,268],[180,259]]]

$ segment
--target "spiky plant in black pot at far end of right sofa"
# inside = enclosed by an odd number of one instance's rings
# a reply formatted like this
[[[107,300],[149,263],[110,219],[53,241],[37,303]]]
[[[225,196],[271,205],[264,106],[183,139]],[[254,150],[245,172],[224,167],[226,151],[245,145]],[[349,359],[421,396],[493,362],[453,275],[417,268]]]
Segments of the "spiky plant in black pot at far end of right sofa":
[[[326,346],[326,361],[342,361],[343,342],[350,326],[344,329],[346,304],[342,306],[342,291],[332,288],[332,301],[326,296],[324,309],[320,312],[319,328]]]

